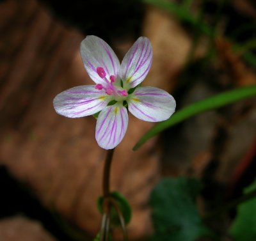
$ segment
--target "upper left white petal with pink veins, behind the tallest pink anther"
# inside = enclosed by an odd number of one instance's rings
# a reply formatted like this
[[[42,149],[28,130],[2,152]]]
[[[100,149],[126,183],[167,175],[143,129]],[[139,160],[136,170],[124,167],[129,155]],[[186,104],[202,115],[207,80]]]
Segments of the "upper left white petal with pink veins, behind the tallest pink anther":
[[[104,40],[97,36],[89,35],[80,45],[80,53],[84,68],[96,84],[104,84],[105,81],[97,74],[97,67],[102,67],[109,80],[111,75],[117,76],[120,62],[115,52]]]

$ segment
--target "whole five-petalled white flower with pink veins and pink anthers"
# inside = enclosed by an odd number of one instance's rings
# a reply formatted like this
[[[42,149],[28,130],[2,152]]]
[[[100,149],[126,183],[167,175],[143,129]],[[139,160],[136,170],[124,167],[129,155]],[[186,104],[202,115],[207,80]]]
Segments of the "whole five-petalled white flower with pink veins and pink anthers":
[[[84,68],[95,85],[63,91],[53,100],[58,114],[70,118],[99,113],[95,137],[100,147],[115,148],[124,138],[128,110],[145,121],[164,121],[175,111],[175,100],[166,91],[140,87],[152,63],[152,46],[140,37],[125,54],[120,65],[115,52],[97,36],[81,43]]]

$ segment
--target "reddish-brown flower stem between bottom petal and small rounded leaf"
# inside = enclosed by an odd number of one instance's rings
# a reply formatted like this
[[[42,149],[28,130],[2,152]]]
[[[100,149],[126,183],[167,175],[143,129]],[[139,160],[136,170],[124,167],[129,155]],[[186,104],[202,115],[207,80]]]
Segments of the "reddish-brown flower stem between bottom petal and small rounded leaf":
[[[107,152],[105,164],[104,164],[104,171],[103,171],[103,197],[106,198],[109,196],[110,190],[109,190],[109,181],[110,181],[110,169],[111,169],[111,162],[112,162],[112,157],[114,154],[114,149],[110,149]]]

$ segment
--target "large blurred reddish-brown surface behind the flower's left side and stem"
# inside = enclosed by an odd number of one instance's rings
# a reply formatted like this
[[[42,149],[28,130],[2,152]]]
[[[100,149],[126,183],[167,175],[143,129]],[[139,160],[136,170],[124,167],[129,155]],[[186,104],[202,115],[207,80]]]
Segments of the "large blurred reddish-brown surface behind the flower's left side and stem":
[[[20,10],[22,15],[18,16]],[[92,117],[64,118],[52,107],[53,98],[61,91],[92,84],[79,56],[83,36],[54,22],[33,0],[23,4],[6,1],[0,12],[4,13],[0,20],[4,36],[0,163],[27,183],[45,206],[95,235],[100,226],[96,200],[102,194],[106,152],[97,146]],[[8,24],[13,25],[6,27]],[[157,26],[152,29],[156,30]],[[152,37],[153,46],[157,46],[155,42]],[[157,52],[158,47],[154,48]],[[159,58],[154,60],[151,73],[158,68],[159,60],[162,62]],[[176,70],[181,63],[182,59]],[[171,85],[164,84],[170,72],[155,75],[158,79],[149,76],[150,86],[170,89]],[[132,152],[132,146],[152,125],[129,116],[127,134],[116,148],[111,170],[111,189],[122,192],[132,206],[133,218],[128,226],[131,238],[152,229],[147,200],[159,177],[157,139]]]

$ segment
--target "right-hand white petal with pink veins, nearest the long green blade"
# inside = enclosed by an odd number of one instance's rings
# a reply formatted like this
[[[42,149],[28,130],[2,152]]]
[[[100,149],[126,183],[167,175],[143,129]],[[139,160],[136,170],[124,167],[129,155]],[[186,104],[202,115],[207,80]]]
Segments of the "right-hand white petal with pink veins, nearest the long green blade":
[[[144,121],[164,121],[175,111],[176,102],[172,95],[163,89],[139,87],[128,101],[129,111]]]

